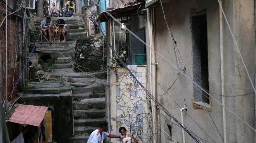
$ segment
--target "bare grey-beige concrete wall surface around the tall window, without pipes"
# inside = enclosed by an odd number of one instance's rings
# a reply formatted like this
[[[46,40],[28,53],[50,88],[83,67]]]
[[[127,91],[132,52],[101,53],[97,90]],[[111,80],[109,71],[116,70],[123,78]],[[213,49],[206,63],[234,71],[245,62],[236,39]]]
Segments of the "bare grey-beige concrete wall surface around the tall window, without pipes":
[[[186,66],[186,76],[193,75],[192,61],[192,33],[191,15],[206,9],[207,32],[208,32],[208,63],[209,63],[209,91],[210,93],[221,94],[221,61],[220,61],[220,19],[218,1],[212,0],[171,0],[163,4],[166,20],[177,42],[183,65]],[[225,0],[223,3],[224,11],[230,22],[232,32],[235,35],[238,47],[241,51],[244,62],[247,66],[251,78],[254,80],[255,70],[255,25],[254,25],[254,2],[248,0]],[[178,76],[176,71],[168,62],[178,67],[173,43],[164,21],[161,6],[155,8],[156,18],[156,62],[160,64],[156,69],[156,80],[163,87],[156,84],[158,95],[164,94]],[[147,28],[146,28],[147,30]],[[149,41],[147,40],[147,43]],[[235,44],[232,40],[227,24],[223,21],[223,53],[224,53],[224,91],[226,96],[253,93],[253,88],[249,82],[244,66]],[[149,49],[147,49],[149,55]],[[147,58],[149,62],[149,57]],[[166,62],[168,61],[168,62]],[[148,80],[150,74],[148,73]],[[180,107],[183,101],[187,104],[188,111],[183,113],[184,125],[192,130],[196,135],[207,142],[222,143],[223,140],[223,114],[221,96],[211,94],[210,108],[197,106],[194,104],[193,83],[182,74],[168,94],[157,96],[158,101],[179,121],[181,121]],[[148,86],[149,87],[149,86]],[[214,99],[213,99],[214,98]],[[226,107],[235,113],[247,124],[255,128],[253,94],[238,97],[226,97]],[[233,109],[237,108],[237,109]],[[211,119],[209,113],[211,114]],[[249,128],[240,119],[226,110],[227,119],[227,142],[228,143],[254,143],[255,131]],[[165,116],[165,117],[164,117]],[[194,120],[194,121],[193,121]],[[220,131],[219,135],[216,127]],[[172,123],[166,114],[160,115],[161,142],[170,141],[168,137],[168,126],[172,127],[173,142],[182,142],[182,129]],[[197,125],[197,124],[200,126]],[[164,133],[166,132],[166,133]],[[205,132],[205,133],[204,133]],[[209,135],[206,135],[206,133]],[[214,140],[214,141],[213,141]],[[194,140],[185,133],[185,141],[192,143]]]

